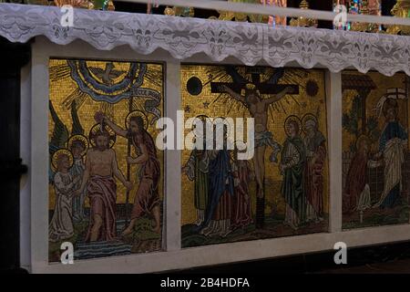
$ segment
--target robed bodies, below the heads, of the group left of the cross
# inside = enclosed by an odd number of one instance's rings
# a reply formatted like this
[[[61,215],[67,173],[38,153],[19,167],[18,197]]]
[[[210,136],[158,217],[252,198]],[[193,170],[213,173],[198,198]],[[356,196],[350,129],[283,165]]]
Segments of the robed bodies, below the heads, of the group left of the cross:
[[[233,155],[231,155],[233,154]],[[195,182],[198,231],[228,235],[232,228],[251,224],[250,163],[236,159],[237,151],[193,150],[182,168]]]

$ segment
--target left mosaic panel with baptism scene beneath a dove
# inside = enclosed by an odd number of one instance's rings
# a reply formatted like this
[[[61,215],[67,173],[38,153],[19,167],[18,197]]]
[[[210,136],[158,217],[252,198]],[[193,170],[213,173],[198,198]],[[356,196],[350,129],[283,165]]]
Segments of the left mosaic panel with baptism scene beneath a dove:
[[[163,65],[49,61],[49,261],[162,249]]]

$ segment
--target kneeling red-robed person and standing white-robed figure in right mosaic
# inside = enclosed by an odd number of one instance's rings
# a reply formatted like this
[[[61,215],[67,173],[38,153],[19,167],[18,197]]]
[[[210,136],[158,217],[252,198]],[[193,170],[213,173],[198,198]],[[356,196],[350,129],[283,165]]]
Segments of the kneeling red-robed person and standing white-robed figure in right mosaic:
[[[408,135],[398,116],[396,99],[387,99],[383,107],[384,129],[378,150],[371,154],[372,141],[365,134],[356,141],[356,152],[350,162],[343,191],[343,214],[380,207],[390,209],[400,202],[403,190],[402,167]],[[384,190],[374,203],[370,196],[368,169],[384,165]]]

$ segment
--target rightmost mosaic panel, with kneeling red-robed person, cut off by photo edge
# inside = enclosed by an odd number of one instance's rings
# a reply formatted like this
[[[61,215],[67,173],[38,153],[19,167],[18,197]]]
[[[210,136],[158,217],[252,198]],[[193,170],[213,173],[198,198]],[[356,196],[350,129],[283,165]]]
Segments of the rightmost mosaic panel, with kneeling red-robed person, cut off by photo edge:
[[[408,81],[343,71],[343,229],[409,222]]]

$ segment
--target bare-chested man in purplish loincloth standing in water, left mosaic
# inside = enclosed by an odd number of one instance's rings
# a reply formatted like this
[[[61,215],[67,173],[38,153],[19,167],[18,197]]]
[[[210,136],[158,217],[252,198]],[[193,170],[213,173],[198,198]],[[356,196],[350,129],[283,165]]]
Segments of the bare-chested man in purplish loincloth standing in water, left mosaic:
[[[90,201],[90,221],[86,242],[115,240],[117,237],[115,177],[128,190],[132,188],[132,183],[127,182],[118,169],[116,152],[108,147],[108,131],[97,130],[90,140],[93,140],[96,146],[87,151],[86,170],[81,187],[77,191],[82,193],[87,187]]]

